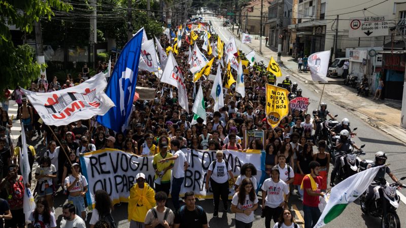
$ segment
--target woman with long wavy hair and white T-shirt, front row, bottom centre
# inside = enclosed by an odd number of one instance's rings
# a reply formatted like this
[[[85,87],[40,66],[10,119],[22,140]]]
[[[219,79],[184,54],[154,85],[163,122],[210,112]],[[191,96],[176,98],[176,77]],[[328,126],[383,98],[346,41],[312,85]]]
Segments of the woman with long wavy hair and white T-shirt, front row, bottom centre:
[[[251,179],[244,178],[231,201],[231,211],[235,213],[236,228],[250,228],[254,221],[254,211],[258,208],[258,198]]]

